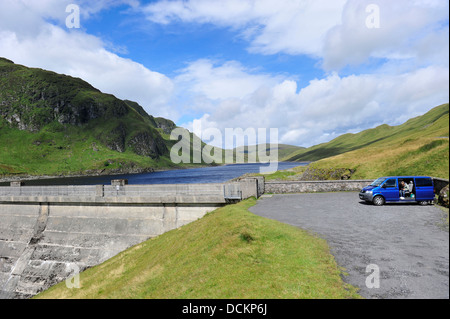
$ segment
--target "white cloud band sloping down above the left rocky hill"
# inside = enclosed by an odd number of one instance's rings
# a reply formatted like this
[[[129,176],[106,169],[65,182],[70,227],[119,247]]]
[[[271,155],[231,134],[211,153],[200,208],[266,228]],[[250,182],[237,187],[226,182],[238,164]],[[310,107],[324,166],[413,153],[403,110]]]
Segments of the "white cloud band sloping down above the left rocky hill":
[[[173,90],[171,79],[108,51],[101,39],[82,29],[69,30],[45,21],[63,19],[67,15],[62,5],[65,2],[68,1],[46,0],[37,5],[31,0],[2,0],[0,56],[18,64],[80,77],[104,93],[135,100],[150,114],[176,118],[178,114],[167,105]],[[125,1],[105,0],[95,7],[82,3],[85,10],[95,12],[101,4],[119,2]]]

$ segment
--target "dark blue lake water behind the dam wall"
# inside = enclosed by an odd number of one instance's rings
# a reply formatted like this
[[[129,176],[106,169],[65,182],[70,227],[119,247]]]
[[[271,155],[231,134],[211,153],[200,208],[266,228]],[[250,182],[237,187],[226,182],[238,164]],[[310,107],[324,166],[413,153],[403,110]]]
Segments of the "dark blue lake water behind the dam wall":
[[[284,170],[305,163],[279,162],[278,170]],[[128,184],[193,184],[223,183],[246,173],[259,173],[262,164],[232,164],[215,167],[202,167],[161,171],[154,173],[105,175],[90,177],[67,177],[25,181],[25,185],[110,185],[113,179],[127,179]],[[9,183],[3,183],[9,185]],[[0,184],[2,185],[2,184]]]

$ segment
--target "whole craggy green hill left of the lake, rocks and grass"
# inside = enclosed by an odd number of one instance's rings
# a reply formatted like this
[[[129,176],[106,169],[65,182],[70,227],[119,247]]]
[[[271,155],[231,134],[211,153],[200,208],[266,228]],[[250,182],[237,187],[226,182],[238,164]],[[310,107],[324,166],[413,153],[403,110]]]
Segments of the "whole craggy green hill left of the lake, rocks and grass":
[[[172,167],[175,127],[81,79],[0,58],[0,176]]]

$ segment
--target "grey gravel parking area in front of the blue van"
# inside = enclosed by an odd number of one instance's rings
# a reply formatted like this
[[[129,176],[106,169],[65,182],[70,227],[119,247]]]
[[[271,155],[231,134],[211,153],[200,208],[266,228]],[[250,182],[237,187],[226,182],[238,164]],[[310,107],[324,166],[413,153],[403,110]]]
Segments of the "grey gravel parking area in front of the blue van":
[[[365,298],[449,298],[448,226],[433,205],[377,207],[341,192],[266,195],[250,211],[327,240]]]

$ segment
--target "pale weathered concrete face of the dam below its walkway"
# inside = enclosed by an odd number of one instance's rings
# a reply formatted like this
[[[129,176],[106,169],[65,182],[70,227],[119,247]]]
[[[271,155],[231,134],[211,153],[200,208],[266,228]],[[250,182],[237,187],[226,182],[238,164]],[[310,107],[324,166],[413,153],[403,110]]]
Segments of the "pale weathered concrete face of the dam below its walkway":
[[[0,204],[0,299],[29,298],[223,204]]]

